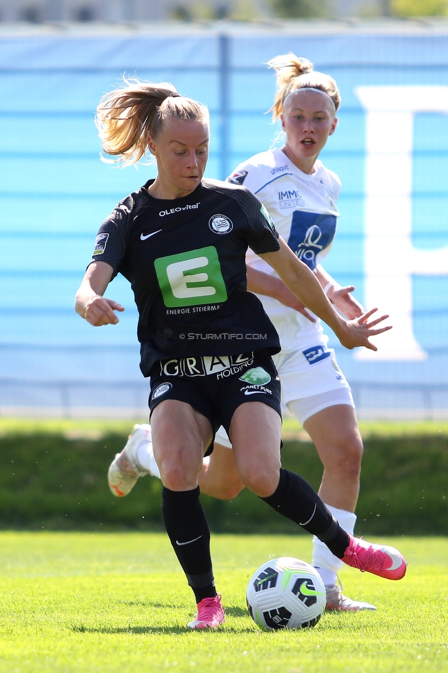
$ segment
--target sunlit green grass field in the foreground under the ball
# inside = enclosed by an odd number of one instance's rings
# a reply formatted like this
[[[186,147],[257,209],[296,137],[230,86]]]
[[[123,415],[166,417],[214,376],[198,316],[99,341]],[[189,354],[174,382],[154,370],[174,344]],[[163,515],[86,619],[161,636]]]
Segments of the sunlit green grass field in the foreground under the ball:
[[[269,557],[309,561],[311,541],[214,535],[227,621],[216,632],[190,632],[192,593],[165,534],[0,533],[0,672],[448,671],[448,539],[387,542],[407,556],[405,579],[340,574],[347,594],[377,612],[261,632],[245,610],[247,579]]]

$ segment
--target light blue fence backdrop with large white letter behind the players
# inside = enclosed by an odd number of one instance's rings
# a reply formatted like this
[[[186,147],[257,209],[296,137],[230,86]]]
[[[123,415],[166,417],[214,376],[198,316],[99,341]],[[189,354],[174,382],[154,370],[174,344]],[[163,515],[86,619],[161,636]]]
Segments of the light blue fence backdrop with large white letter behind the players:
[[[136,310],[92,328],[73,311],[96,229],[151,166],[99,160],[94,110],[123,73],[171,81],[210,107],[207,175],[272,145],[263,63],[295,52],[338,82],[343,105],[322,154],[340,176],[338,236],[325,267],[391,312],[380,352],[338,361],[361,416],[448,415],[448,32],[313,34],[190,29],[0,38],[0,413],[138,415]]]

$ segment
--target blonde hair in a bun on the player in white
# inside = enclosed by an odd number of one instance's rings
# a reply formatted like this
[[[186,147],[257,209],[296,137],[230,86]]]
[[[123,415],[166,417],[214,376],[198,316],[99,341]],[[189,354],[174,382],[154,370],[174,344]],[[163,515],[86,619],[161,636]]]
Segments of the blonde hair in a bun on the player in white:
[[[276,71],[277,77],[274,105],[269,110],[274,121],[282,114],[287,95],[305,87],[323,91],[332,99],[335,111],[338,111],[340,93],[336,82],[328,74],[314,70],[314,64],[308,59],[302,59],[296,54],[284,54],[268,61],[267,66]]]

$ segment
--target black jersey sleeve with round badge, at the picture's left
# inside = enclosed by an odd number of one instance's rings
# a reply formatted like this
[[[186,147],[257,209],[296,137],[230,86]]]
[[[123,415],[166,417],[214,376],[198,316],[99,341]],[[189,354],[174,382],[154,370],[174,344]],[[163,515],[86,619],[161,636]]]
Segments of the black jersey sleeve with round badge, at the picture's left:
[[[125,255],[130,222],[129,205],[125,202],[119,203],[103,221],[96,234],[92,261],[110,264],[114,270],[112,278],[118,274]]]

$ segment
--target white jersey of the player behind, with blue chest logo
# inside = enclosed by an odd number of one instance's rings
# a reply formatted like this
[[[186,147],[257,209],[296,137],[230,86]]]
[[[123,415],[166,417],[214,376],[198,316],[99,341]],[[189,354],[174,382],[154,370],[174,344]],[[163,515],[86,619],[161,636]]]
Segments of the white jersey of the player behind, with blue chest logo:
[[[240,163],[227,178],[256,194],[289,248],[312,270],[332,247],[339,215],[336,200],[340,192],[340,180],[334,172],[321,161],[316,161],[315,168],[310,175],[304,173],[282,150],[275,148]],[[276,275],[272,267],[251,250],[247,263]],[[259,295],[259,299],[280,336],[283,352],[303,351],[327,342],[320,321],[312,323],[272,297]]]

